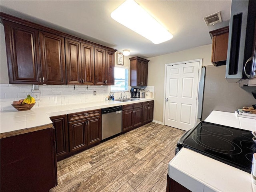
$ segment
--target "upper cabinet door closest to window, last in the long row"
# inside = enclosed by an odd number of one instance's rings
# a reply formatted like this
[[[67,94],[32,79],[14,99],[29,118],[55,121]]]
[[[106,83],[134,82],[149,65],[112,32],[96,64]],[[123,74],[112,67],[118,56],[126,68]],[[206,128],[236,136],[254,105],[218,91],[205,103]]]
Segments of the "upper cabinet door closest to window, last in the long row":
[[[115,85],[114,52],[106,51],[106,85]]]

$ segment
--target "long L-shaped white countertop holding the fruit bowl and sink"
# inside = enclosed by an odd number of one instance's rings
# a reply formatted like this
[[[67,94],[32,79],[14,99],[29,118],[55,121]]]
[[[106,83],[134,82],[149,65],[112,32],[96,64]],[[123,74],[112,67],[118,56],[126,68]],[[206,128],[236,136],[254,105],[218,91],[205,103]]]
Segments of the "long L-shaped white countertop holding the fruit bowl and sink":
[[[13,110],[10,111],[0,112],[0,133],[2,134],[11,131],[17,131],[52,124],[52,121],[49,118],[51,116],[58,116],[88,110],[96,110],[119,105],[128,105],[151,100],[154,100],[154,98],[140,98],[140,100],[128,102],[100,101],[61,106],[48,106],[32,108],[28,111],[17,111],[15,108],[13,108]]]

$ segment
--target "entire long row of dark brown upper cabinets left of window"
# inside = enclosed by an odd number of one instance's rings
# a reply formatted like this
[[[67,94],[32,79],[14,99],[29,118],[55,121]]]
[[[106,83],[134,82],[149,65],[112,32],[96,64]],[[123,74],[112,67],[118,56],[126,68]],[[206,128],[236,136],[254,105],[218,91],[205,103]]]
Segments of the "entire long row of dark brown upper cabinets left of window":
[[[1,23],[11,84],[114,85],[115,49],[2,12]]]

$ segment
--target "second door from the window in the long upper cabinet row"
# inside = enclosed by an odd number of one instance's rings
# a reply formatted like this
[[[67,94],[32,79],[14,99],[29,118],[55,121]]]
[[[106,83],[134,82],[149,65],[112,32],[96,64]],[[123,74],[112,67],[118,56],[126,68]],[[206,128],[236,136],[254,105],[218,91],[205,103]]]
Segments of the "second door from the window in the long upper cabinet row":
[[[94,64],[95,64],[95,85],[104,85],[105,77],[105,50],[94,48]]]

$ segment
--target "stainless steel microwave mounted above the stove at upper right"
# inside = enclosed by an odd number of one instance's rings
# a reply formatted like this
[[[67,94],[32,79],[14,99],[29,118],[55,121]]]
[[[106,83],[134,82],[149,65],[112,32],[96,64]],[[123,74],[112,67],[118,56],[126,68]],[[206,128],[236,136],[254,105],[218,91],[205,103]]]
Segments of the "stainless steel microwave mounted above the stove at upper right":
[[[232,0],[228,34],[226,79],[250,78],[256,1]]]

